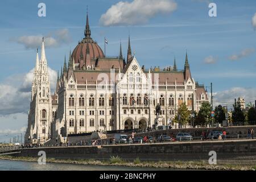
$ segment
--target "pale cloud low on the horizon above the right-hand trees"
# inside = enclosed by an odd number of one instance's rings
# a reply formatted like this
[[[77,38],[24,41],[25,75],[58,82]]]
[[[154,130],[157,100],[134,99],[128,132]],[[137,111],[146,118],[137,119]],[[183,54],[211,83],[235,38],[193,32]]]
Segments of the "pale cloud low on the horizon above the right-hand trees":
[[[214,106],[228,105],[229,107],[232,107],[234,104],[234,99],[238,97],[245,98],[246,103],[254,102],[254,100],[256,100],[256,89],[235,87],[229,90],[213,93],[213,96]]]

